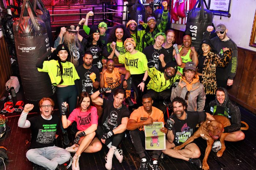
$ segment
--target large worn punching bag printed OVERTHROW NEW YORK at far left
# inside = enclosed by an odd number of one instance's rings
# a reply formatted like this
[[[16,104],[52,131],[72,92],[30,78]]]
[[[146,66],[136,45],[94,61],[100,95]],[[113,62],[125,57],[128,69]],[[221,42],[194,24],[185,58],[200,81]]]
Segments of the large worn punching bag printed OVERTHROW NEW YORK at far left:
[[[41,100],[53,94],[47,73],[38,72],[37,60],[50,51],[44,22],[35,15],[29,0],[24,0],[20,18],[13,24],[20,77],[25,97],[30,101]]]

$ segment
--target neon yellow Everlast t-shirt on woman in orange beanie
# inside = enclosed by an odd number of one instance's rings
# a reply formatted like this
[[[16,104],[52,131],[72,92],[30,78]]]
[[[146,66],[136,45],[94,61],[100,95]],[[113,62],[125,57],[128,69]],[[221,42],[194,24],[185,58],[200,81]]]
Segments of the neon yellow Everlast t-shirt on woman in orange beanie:
[[[146,55],[140,51],[135,54],[126,52],[118,56],[118,61],[124,64],[125,69],[129,70],[131,74],[142,74],[147,70],[147,58]]]

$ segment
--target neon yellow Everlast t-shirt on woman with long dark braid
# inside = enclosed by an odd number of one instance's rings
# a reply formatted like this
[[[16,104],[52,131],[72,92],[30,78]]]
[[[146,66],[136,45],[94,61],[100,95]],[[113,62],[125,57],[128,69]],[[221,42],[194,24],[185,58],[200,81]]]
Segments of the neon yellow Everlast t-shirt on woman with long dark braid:
[[[63,83],[61,85],[75,85],[75,80],[79,79],[75,66],[71,62],[61,63],[63,67]],[[61,80],[60,65],[57,60],[44,61],[43,68],[37,68],[39,72],[47,72],[54,86],[57,86]]]

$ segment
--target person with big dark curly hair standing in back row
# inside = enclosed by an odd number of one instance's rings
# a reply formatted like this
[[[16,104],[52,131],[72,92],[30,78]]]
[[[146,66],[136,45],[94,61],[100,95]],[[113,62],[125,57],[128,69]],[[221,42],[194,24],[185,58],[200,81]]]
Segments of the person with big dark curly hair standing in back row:
[[[107,49],[108,49],[109,53],[112,53],[112,51],[113,51],[112,47],[111,47],[112,42],[116,43],[116,50],[120,54],[126,53],[126,50],[124,47],[124,41],[127,38],[131,38],[131,34],[125,28],[124,25],[114,26],[109,34],[109,40],[108,40],[108,44],[107,44]],[[114,55],[113,60],[114,60],[115,64],[118,63],[118,58],[116,57],[116,55]]]

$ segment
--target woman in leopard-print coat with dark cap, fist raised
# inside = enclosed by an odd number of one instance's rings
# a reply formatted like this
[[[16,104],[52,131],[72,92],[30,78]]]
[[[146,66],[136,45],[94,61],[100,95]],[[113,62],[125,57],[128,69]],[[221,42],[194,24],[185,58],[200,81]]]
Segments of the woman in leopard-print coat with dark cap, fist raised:
[[[215,90],[217,89],[216,67],[225,67],[229,63],[232,50],[223,49],[225,54],[223,58],[220,58],[218,54],[215,54],[210,40],[203,40],[200,46],[197,56],[199,61],[197,72],[200,82],[204,85],[206,107],[210,101],[215,100]]]

